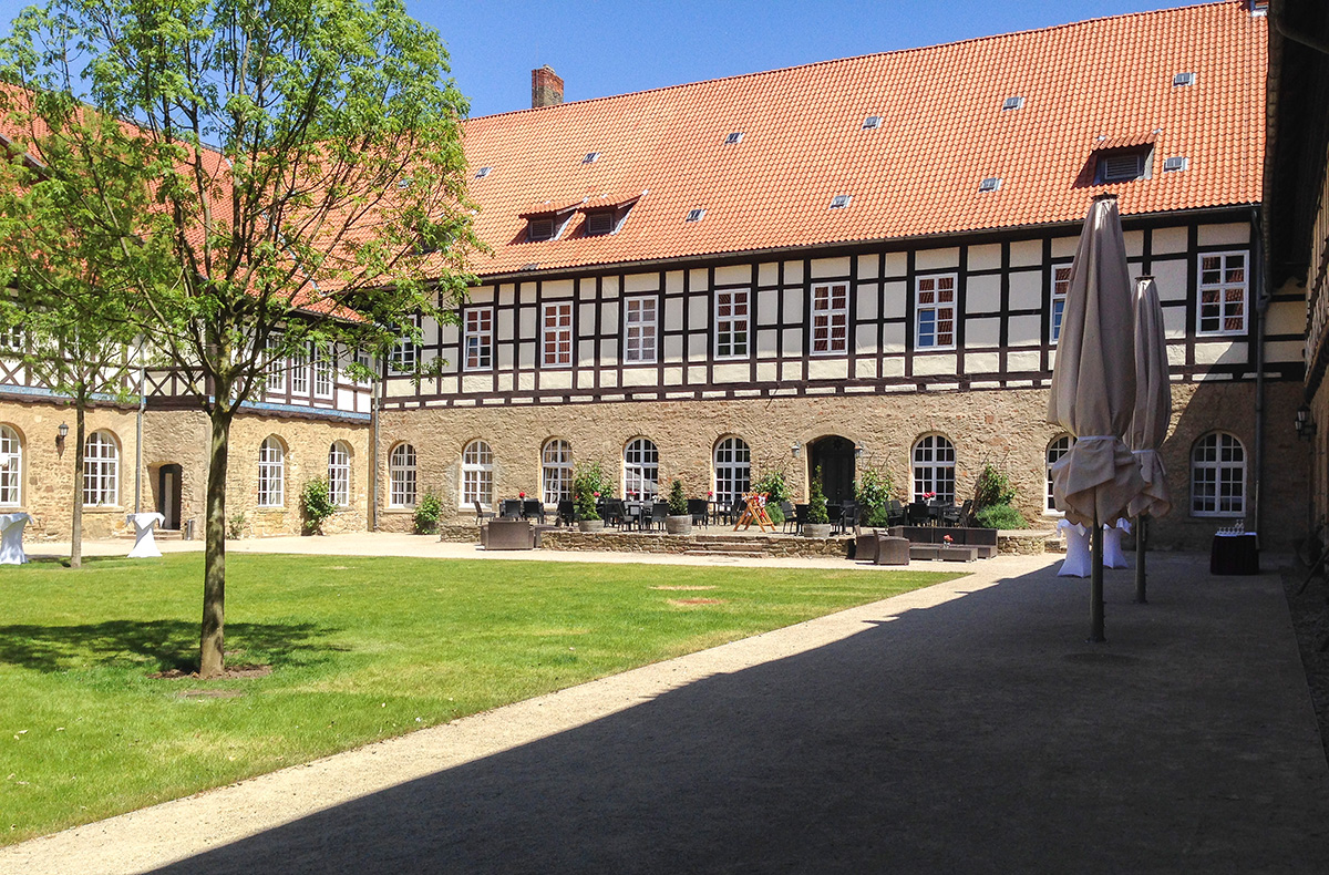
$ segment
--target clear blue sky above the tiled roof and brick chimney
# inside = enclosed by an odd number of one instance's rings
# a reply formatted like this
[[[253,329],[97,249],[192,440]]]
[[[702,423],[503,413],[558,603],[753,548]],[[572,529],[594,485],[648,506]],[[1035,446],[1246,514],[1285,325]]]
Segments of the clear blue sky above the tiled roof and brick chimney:
[[[28,5],[0,0],[8,29]],[[473,116],[530,105],[549,64],[566,100],[694,82],[853,55],[934,45],[1184,0],[407,0],[452,53]]]

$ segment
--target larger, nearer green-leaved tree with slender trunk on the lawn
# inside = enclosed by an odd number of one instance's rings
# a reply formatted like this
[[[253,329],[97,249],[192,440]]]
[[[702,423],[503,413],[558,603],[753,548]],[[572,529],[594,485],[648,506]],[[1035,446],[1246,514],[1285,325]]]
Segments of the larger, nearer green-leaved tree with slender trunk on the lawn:
[[[465,98],[401,0],[49,0],[0,74],[132,122],[121,172],[154,206],[120,245],[169,257],[134,259],[126,307],[211,423],[199,674],[218,677],[231,422],[294,356],[456,320],[478,245]],[[89,197],[112,197],[102,176]]]

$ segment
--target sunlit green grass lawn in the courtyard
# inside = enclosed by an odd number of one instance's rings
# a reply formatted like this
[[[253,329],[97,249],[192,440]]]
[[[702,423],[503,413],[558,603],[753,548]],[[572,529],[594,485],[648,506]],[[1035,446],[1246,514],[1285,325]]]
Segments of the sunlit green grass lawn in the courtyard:
[[[0,843],[958,576],[256,555],[227,570],[227,664],[267,677],[148,677],[197,666],[199,555],[0,569]]]

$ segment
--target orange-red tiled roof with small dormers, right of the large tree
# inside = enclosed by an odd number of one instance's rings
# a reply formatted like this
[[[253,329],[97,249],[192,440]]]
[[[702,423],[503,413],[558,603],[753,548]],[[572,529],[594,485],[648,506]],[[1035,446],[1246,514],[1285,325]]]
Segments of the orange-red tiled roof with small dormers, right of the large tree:
[[[485,274],[1078,222],[1256,203],[1267,24],[1241,1],[473,118],[465,150]],[[1176,73],[1195,84],[1174,86]],[[1002,110],[1007,97],[1021,109]],[[864,130],[868,116],[881,126]],[[742,142],[726,145],[731,132]],[[1094,186],[1104,142],[1155,144],[1152,178]],[[599,158],[582,158],[598,152]],[[1189,168],[1162,173],[1163,158]],[[999,177],[997,191],[978,190]],[[520,214],[645,191],[618,233],[525,242]],[[837,194],[848,209],[831,210]],[[699,222],[688,210],[704,207]]]

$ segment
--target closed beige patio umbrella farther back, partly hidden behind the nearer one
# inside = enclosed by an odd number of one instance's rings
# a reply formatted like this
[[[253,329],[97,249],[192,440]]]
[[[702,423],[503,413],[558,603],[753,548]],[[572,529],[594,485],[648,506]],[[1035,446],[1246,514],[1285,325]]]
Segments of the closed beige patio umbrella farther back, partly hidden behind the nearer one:
[[[1167,469],[1159,447],[1167,439],[1172,419],[1172,386],[1167,371],[1167,340],[1163,336],[1163,307],[1152,277],[1140,277],[1135,287],[1135,414],[1126,443],[1140,463],[1144,487],[1131,499],[1128,511],[1135,520],[1135,601],[1144,604],[1144,557],[1148,548],[1148,517],[1172,509]]]

